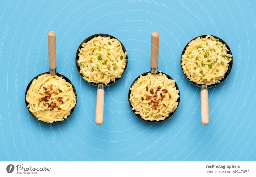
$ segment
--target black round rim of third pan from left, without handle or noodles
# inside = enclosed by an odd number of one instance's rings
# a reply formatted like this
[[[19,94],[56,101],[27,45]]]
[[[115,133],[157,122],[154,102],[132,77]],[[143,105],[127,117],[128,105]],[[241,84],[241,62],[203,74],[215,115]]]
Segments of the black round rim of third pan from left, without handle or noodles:
[[[135,83],[135,81],[137,81],[137,80],[140,78],[141,75],[144,76],[144,75],[146,75],[146,74],[148,74],[148,73],[150,73],[150,71],[147,71],[147,72],[145,72],[145,73],[143,73],[143,74],[140,74],[138,77],[136,77],[136,78],[134,79],[134,81],[132,82],[130,88],[133,86],[133,84]],[[157,71],[156,74],[159,74],[159,73],[165,74],[168,79],[174,80],[170,75],[168,75],[168,74],[166,74],[166,73],[164,73],[164,72],[162,72],[162,71]],[[175,81],[175,80],[174,80],[174,81]],[[130,95],[131,95],[131,90],[130,90],[130,88],[129,88],[129,91],[128,91],[128,103],[129,103],[129,106],[130,106],[132,112],[134,113],[134,115],[135,115],[136,117],[139,117],[141,120],[143,120],[143,121],[145,121],[145,122],[150,122],[150,123],[159,123],[159,122],[163,122],[163,121],[169,119],[170,117],[172,117],[172,115],[176,112],[176,110],[178,109],[178,107],[179,107],[179,105],[180,105],[180,89],[179,89],[178,84],[177,84],[176,81],[175,81],[175,87],[176,87],[176,89],[179,90],[179,93],[178,93],[178,94],[179,94],[179,98],[177,99],[178,105],[177,105],[176,109],[175,109],[174,111],[170,112],[169,115],[168,115],[168,117],[166,117],[166,118],[163,119],[163,120],[160,120],[160,121],[156,121],[156,120],[153,120],[153,121],[152,121],[152,120],[145,120],[145,119],[143,119],[143,118],[140,116],[140,114],[135,113],[135,110],[132,110],[132,104],[131,104],[131,101],[130,101]]]

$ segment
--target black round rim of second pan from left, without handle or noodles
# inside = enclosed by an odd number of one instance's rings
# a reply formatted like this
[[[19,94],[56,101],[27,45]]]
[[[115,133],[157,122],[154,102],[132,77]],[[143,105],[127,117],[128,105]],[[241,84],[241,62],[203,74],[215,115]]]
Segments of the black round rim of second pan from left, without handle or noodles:
[[[82,48],[82,44],[83,44],[83,43],[86,43],[86,42],[88,42],[89,40],[91,40],[92,38],[97,37],[97,36],[104,36],[104,37],[108,37],[108,36],[109,36],[110,39],[117,39],[116,37],[114,37],[114,36],[112,36],[112,35],[110,35],[110,34],[97,33],[97,34],[93,34],[93,35],[87,37],[86,39],[84,39],[84,40],[81,42],[81,44],[78,46],[78,48],[77,48],[77,50],[76,50],[75,62],[76,62],[76,69],[77,69],[78,73],[80,74],[80,76],[83,78],[84,81],[86,81],[86,80],[84,79],[83,74],[80,73],[81,69],[80,69],[80,67],[78,66],[78,63],[77,63],[77,61],[78,61],[78,59],[79,59],[79,56],[78,56],[78,54],[79,54],[79,49]],[[125,53],[125,52],[127,53],[127,51],[126,51],[126,49],[125,49],[123,43],[122,43],[119,39],[117,39],[117,40],[120,42],[124,53]],[[120,79],[122,78],[122,76],[124,75],[124,73],[125,73],[125,71],[126,71],[126,68],[127,68],[127,66],[128,66],[128,53],[126,54],[126,59],[125,59],[125,60],[127,60],[127,62],[126,62],[125,67],[124,67],[124,72],[121,74],[120,77],[115,78],[115,81],[110,81],[108,84],[104,84],[104,83],[94,83],[94,82],[89,82],[89,81],[86,81],[86,82],[88,82],[89,84],[92,84],[92,85],[94,85],[94,86],[98,86],[99,84],[102,84],[102,85],[104,85],[104,87],[107,87],[107,86],[112,85],[113,83],[116,83],[118,80],[120,80]]]

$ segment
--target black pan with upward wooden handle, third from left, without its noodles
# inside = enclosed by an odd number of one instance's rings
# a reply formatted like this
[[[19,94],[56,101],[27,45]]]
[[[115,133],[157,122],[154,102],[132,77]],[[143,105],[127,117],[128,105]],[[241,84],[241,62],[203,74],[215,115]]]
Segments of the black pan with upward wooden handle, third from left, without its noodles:
[[[151,35],[151,59],[150,59],[150,67],[151,67],[151,70],[148,71],[148,72],[145,72],[145,73],[141,74],[142,76],[145,76],[145,75],[147,75],[147,74],[150,73],[150,72],[151,72],[152,74],[160,74],[160,73],[165,74],[165,73],[163,73],[163,72],[161,72],[161,71],[157,71],[157,67],[158,67],[158,48],[159,48],[159,34],[158,34],[158,32],[153,32],[152,35]],[[130,88],[133,86],[134,82],[137,81],[137,79],[140,78],[141,75],[139,75],[139,76],[132,82]],[[167,76],[168,79],[173,80],[172,77],[169,76],[168,74],[165,74],[165,75]],[[179,98],[178,98],[178,100],[177,100],[178,105],[177,105],[177,108],[176,108],[173,112],[171,112],[171,113],[168,115],[168,117],[166,117],[164,120],[167,120],[168,118],[170,118],[170,117],[174,114],[174,112],[178,109],[178,107],[179,107],[179,104],[180,104],[180,89],[179,89],[179,87],[178,87],[178,85],[177,85],[176,82],[175,82],[175,87],[176,87],[177,90],[179,90]],[[131,104],[131,101],[130,101],[130,95],[131,95],[131,89],[130,89],[130,88],[129,88],[129,92],[128,92],[128,103],[129,103],[130,108],[131,108],[131,110],[132,110],[132,104]],[[132,110],[132,112],[135,114],[135,116],[139,117],[139,118],[142,119],[143,121],[152,122],[152,123],[164,121],[164,120],[160,120],[160,121],[156,121],[156,120],[154,120],[154,121],[151,121],[151,120],[144,120],[144,119],[140,116],[140,114],[136,114],[136,111],[135,111],[135,110]]]

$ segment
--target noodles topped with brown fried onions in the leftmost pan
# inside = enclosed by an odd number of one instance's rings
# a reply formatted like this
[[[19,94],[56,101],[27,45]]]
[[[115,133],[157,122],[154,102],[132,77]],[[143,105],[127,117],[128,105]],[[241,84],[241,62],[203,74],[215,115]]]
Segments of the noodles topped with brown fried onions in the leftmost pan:
[[[42,74],[28,89],[28,108],[38,120],[46,123],[62,121],[76,105],[72,85],[56,74]]]

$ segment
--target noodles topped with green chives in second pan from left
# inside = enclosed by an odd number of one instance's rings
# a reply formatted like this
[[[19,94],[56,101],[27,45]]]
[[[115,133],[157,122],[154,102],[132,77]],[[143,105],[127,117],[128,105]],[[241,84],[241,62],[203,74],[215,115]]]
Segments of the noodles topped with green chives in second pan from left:
[[[127,53],[117,39],[98,36],[83,43],[82,47],[77,63],[86,81],[108,84],[121,77]]]

